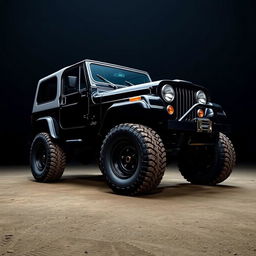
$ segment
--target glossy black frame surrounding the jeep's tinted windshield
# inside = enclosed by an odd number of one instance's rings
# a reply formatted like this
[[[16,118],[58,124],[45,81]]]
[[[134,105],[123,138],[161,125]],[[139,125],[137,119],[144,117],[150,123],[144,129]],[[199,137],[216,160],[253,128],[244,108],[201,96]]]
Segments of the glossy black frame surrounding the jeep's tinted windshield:
[[[146,75],[149,79],[149,82],[152,82],[151,77],[149,76],[149,73],[146,71],[140,70],[140,69],[129,68],[129,67],[121,66],[121,65],[116,65],[116,64],[111,64],[111,63],[101,62],[101,61],[95,61],[95,60],[85,60],[85,66],[87,69],[87,73],[88,73],[88,77],[89,77],[91,86],[97,86],[96,84],[108,85],[107,82],[96,81],[93,79],[91,67],[90,67],[91,64],[96,64],[96,65],[101,65],[101,66],[106,66],[106,67],[111,67],[111,68],[118,68],[118,69],[123,69],[123,70],[131,71],[131,72],[140,73],[140,74]],[[127,85],[127,86],[122,85],[122,84],[116,84],[116,85],[120,88],[129,87],[129,85]],[[136,85],[134,85],[134,86],[136,86]]]

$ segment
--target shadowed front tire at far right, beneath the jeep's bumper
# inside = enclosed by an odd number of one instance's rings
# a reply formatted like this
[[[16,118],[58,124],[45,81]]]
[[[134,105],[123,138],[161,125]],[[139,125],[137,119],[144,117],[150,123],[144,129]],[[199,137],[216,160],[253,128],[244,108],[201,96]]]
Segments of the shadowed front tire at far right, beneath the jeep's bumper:
[[[219,133],[214,146],[187,146],[183,149],[178,166],[183,177],[192,184],[216,185],[229,177],[235,161],[232,142]]]

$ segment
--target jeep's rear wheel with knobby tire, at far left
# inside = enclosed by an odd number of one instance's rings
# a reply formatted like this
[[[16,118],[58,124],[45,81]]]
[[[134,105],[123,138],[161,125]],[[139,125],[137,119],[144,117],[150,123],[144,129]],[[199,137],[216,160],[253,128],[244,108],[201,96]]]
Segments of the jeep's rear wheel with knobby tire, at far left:
[[[38,151],[44,151],[44,163],[37,159]],[[39,156],[40,158],[40,156]],[[48,133],[42,132],[35,136],[30,149],[31,172],[38,182],[55,182],[64,172],[66,156],[62,148],[55,143]]]

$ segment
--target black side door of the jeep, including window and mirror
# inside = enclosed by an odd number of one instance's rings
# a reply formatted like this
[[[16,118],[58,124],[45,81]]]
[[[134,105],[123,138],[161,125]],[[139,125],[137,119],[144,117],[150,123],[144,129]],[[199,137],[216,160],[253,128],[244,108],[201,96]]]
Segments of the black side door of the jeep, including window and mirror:
[[[87,125],[88,87],[84,66],[78,65],[64,71],[62,75],[62,96],[60,125],[63,129],[82,128]]]

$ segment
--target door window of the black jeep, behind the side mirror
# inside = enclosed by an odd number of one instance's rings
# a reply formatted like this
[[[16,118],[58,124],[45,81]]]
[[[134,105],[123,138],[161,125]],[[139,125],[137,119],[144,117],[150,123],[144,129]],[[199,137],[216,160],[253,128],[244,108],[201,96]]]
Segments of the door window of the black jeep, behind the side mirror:
[[[79,89],[79,67],[71,68],[62,76],[64,94],[77,92]]]

